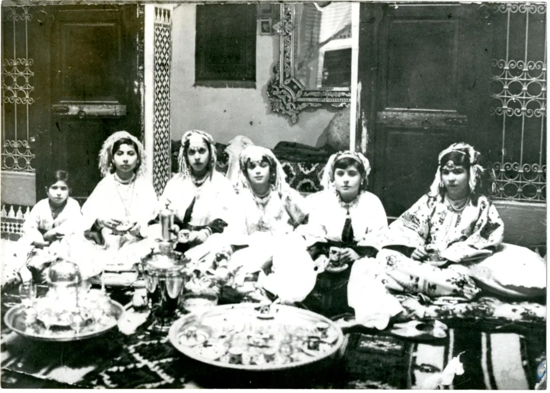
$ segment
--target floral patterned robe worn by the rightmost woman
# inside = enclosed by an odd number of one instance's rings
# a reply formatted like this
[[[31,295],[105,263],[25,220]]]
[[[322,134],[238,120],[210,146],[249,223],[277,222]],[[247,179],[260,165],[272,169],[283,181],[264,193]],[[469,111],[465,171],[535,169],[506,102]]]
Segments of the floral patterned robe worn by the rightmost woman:
[[[490,255],[503,236],[504,224],[485,196],[471,196],[460,209],[447,197],[422,196],[379,238],[382,282],[399,292],[474,298],[480,289],[457,265]],[[427,261],[410,258],[418,247],[431,250]]]

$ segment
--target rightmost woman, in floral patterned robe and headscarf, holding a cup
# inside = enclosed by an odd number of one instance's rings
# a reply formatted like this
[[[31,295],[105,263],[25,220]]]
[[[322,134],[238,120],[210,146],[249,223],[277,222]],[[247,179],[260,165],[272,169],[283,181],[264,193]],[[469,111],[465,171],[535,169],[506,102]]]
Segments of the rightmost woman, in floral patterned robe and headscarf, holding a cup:
[[[438,157],[430,192],[379,240],[390,290],[471,299],[480,291],[458,265],[492,254],[504,235],[497,209],[484,195],[480,153],[455,143]]]

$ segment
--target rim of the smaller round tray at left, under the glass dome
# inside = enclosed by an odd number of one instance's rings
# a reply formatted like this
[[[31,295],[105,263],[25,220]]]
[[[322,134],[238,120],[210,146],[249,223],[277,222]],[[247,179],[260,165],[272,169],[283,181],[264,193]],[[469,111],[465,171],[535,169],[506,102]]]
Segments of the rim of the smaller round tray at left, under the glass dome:
[[[13,306],[4,315],[4,323],[9,329],[15,331],[22,336],[40,341],[77,341],[90,339],[91,337],[100,336],[107,333],[117,326],[120,317],[124,312],[124,307],[120,303],[111,300],[111,310],[109,318],[105,322],[98,324],[90,321],[81,330],[76,333],[70,326],[50,326],[49,329],[39,322],[33,323],[32,326],[27,326],[25,319],[25,306]],[[39,320],[39,318],[38,318]]]

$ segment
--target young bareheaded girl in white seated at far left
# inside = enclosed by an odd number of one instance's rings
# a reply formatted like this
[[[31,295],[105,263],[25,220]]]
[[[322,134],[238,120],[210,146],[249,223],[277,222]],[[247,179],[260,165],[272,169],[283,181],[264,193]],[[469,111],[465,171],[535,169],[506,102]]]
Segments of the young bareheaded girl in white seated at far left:
[[[31,209],[14,256],[15,271],[12,272],[17,275],[18,270],[23,281],[32,279],[30,270],[42,272],[56,256],[65,255],[62,239],[76,230],[81,218],[79,203],[69,197],[69,174],[57,170],[48,180],[45,188],[48,197]],[[14,279],[17,277],[12,274],[7,281]],[[2,284],[6,283],[3,281]]]

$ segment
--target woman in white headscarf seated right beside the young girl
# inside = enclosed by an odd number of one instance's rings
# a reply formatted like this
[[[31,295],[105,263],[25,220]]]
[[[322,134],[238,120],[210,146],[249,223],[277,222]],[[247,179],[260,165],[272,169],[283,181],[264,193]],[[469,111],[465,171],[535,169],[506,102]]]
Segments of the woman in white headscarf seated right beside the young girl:
[[[136,137],[118,131],[103,143],[99,161],[103,179],[82,207],[81,231],[72,239],[69,258],[87,276],[103,269],[134,276],[134,264],[153,247],[147,224],[158,203],[145,176],[145,150]]]

